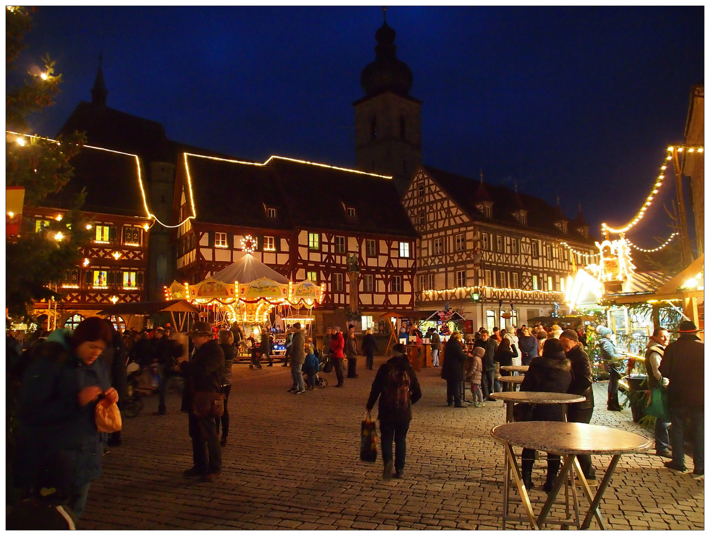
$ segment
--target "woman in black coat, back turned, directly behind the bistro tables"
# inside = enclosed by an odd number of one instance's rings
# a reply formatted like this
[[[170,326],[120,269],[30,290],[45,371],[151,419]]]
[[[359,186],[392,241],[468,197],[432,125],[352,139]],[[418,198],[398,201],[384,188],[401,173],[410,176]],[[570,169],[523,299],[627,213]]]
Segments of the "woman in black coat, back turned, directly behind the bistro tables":
[[[502,345],[503,343],[501,343]],[[550,338],[545,342],[542,355],[530,360],[530,368],[525,372],[520,391],[537,392],[567,392],[572,383],[572,363],[564,354],[564,348],[559,339]],[[523,411],[520,410],[523,408]],[[517,410],[517,411],[516,411]],[[564,421],[564,414],[560,404],[517,404],[514,408],[516,420],[526,421]],[[521,418],[522,417],[522,418]],[[535,463],[535,450],[523,449],[521,470],[525,488],[531,490],[532,466]],[[552,484],[555,483],[559,471],[559,456],[547,453],[547,480],[543,490],[550,493]]]

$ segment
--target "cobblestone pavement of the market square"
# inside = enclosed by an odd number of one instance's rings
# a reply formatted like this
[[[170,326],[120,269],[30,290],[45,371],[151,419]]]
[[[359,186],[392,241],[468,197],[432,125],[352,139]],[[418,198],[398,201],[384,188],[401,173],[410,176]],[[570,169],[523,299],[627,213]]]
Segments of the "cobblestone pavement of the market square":
[[[376,357],[376,367],[384,359]],[[499,529],[503,450],[490,430],[504,422],[503,404],[446,407],[440,370],[420,372],[423,397],[414,407],[403,480],[381,479],[379,455],[378,463],[359,461],[360,421],[375,373],[361,365],[344,389],[297,396],[286,392],[290,368],[234,365],[224,472],[212,483],[182,478],[192,449],[179,396],[169,395],[163,417],[152,415],[157,397],[148,398],[138,417],[124,420],[123,445],[104,457],[82,527]],[[334,385],[334,373],[325,377]],[[649,434],[628,412],[604,409],[606,385],[596,386],[595,397],[594,424]],[[608,462],[596,457],[598,478]],[[535,464],[532,498],[545,497],[544,471],[544,461]],[[614,529],[703,529],[703,490],[703,480],[670,471],[657,456],[623,456],[601,512]]]

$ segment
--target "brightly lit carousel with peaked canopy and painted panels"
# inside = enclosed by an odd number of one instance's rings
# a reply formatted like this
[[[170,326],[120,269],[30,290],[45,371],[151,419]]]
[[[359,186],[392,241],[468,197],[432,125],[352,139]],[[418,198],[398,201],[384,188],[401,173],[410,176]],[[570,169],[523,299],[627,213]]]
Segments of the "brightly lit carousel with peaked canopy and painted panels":
[[[271,329],[272,323],[280,326],[276,318],[310,318],[322,292],[322,286],[309,279],[289,281],[246,252],[234,264],[197,284],[174,281],[165,297],[187,299],[211,317],[214,326],[229,328],[236,323],[249,336]]]

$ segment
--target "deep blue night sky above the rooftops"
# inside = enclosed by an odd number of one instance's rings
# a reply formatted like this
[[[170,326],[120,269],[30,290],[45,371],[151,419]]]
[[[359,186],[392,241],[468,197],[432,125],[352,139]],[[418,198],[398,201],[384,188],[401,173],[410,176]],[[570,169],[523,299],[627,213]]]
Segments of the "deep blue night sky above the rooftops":
[[[424,101],[425,164],[559,193],[572,217],[581,201],[597,230],[648,195],[704,77],[702,7],[394,6],[387,19]],[[18,68],[50,53],[64,77],[33,118],[40,134],[90,100],[103,53],[108,105],[162,122],[170,139],[354,166],[351,102],[381,23],[378,7],[40,7]],[[671,193],[667,181],[660,197]],[[661,203],[644,222],[654,217],[670,234]],[[629,237],[651,247],[650,230]]]

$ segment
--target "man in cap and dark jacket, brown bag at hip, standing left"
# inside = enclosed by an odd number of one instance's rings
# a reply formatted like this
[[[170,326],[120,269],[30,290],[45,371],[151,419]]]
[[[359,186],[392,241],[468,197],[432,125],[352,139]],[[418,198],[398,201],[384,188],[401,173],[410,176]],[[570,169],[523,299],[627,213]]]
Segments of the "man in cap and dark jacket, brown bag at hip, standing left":
[[[208,322],[195,322],[190,338],[197,349],[187,367],[187,385],[183,391],[182,411],[187,412],[190,437],[192,438],[192,468],[185,477],[201,476],[210,482],[222,475],[222,450],[214,427],[214,417],[195,414],[195,392],[219,392],[224,371],[224,352],[214,339]]]

